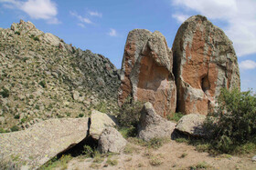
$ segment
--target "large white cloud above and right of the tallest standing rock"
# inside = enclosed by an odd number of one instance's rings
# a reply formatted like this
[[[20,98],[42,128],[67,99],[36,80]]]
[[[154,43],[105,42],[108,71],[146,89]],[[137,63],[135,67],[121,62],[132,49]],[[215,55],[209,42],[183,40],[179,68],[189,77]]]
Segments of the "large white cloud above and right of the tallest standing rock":
[[[225,33],[234,43],[237,55],[256,53],[256,1],[255,0],[172,0],[183,7],[182,12],[196,11],[208,19],[226,22]],[[180,12],[179,12],[180,13]],[[173,15],[179,22],[182,17]]]

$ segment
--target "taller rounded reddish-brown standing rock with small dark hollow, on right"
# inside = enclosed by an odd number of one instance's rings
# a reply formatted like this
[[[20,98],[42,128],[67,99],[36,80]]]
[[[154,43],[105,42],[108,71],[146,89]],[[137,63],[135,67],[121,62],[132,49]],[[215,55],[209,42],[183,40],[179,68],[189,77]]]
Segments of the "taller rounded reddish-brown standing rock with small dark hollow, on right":
[[[178,29],[173,45],[177,111],[207,115],[220,88],[240,88],[232,42],[208,19],[191,16]]]

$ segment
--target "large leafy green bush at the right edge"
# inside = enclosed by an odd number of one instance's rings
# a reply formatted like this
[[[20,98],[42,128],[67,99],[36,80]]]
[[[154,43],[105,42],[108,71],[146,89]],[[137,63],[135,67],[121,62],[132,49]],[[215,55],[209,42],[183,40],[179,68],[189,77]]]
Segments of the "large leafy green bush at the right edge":
[[[232,153],[236,147],[256,138],[256,95],[251,91],[222,89],[217,111],[208,118],[213,129],[211,144],[223,153]],[[255,144],[255,140],[254,140]]]

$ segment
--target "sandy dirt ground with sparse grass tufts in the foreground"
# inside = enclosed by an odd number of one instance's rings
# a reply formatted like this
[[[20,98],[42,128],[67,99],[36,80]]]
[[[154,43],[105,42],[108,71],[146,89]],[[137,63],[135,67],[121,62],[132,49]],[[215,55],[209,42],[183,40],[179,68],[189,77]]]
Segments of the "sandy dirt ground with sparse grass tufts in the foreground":
[[[149,149],[140,145],[128,145],[128,153],[101,158],[75,157],[66,166],[68,169],[250,169],[256,170],[252,155],[210,156],[199,153],[196,147],[170,141],[158,149]],[[107,161],[111,160],[112,162]],[[102,161],[102,162],[101,162]],[[98,162],[98,163],[97,163]],[[117,164],[117,165],[116,165]]]

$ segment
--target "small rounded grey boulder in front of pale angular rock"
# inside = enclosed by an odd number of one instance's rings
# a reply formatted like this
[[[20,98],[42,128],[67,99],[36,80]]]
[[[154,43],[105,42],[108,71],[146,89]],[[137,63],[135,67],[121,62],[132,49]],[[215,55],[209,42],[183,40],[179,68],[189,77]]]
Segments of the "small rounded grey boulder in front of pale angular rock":
[[[98,142],[98,149],[101,153],[121,153],[127,141],[115,128],[107,127],[103,130]]]

